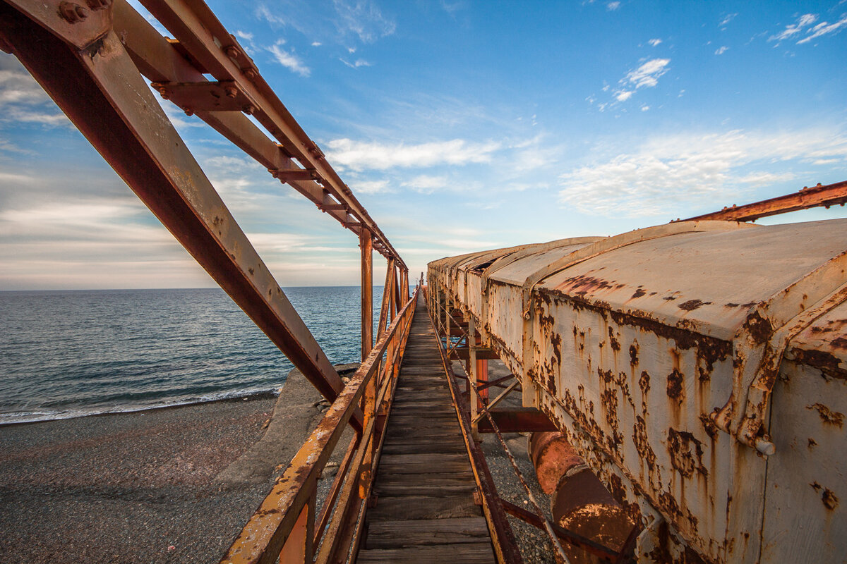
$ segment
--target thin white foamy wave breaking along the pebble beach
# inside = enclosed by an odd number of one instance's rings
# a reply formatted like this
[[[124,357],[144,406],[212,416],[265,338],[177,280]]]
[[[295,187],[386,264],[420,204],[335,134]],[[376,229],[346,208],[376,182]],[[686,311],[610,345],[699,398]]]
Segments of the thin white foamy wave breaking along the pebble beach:
[[[228,392],[215,392],[200,397],[178,398],[172,401],[145,403],[128,406],[110,406],[108,408],[77,408],[25,411],[18,413],[0,413],[0,425],[38,423],[42,421],[56,421],[60,419],[75,419],[78,417],[90,417],[91,415],[107,415],[109,413],[136,413],[150,409],[176,408],[186,405],[197,405],[198,403],[222,402],[233,399],[250,399],[258,396],[275,396],[280,391],[279,386],[273,388],[249,388],[246,390],[230,390]]]

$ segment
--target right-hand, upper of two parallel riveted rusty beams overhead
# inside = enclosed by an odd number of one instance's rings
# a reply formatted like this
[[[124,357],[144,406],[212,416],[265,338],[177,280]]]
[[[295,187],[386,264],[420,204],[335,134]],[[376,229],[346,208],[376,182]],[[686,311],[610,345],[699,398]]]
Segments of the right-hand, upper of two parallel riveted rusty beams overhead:
[[[314,171],[324,189],[349,210],[349,215],[356,222],[345,222],[345,226],[367,227],[381,244],[380,249],[385,249],[385,255],[393,256],[400,266],[406,268],[399,253],[368,211],[326,161],[323,151],[302,130],[258,73],[235,36],[224,28],[208,6],[202,2],[180,0],[144,0],[142,3],[174,34],[180,49],[189,53],[205,74],[213,75],[218,81],[238,85],[236,96],[244,96],[250,101],[249,113],[274,135],[288,156],[295,158],[304,169]]]

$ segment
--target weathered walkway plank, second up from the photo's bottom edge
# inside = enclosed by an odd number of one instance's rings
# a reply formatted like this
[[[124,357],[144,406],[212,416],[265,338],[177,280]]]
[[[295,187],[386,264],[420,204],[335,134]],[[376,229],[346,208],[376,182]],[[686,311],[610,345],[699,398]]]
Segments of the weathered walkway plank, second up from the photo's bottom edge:
[[[484,517],[374,521],[368,527],[368,541],[365,548],[454,545],[488,541],[488,525]]]

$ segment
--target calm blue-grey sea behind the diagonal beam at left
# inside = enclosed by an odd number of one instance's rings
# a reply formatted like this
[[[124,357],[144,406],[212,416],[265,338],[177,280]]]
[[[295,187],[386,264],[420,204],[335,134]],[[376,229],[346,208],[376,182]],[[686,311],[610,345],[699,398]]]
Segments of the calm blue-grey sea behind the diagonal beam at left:
[[[358,361],[358,287],[285,294],[333,364]],[[0,327],[0,424],[270,392],[292,368],[219,288],[0,292]]]

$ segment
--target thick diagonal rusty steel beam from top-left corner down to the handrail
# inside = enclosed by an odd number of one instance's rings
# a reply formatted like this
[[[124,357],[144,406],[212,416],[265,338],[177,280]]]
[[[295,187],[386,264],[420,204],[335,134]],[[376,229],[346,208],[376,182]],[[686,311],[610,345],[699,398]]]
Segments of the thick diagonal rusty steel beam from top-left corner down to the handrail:
[[[324,397],[335,399],[340,377],[158,106],[119,37],[108,26],[86,27],[86,22],[67,30],[58,8],[19,4],[0,4],[0,33],[11,52],[215,282]]]

